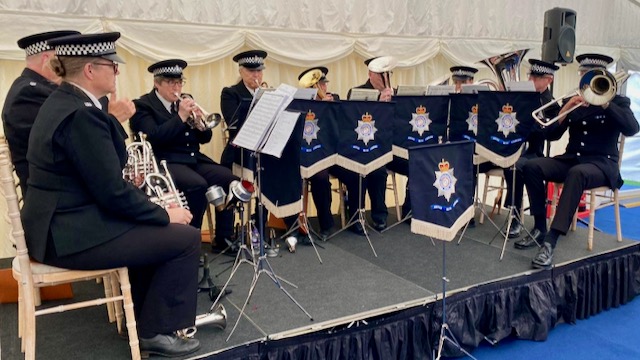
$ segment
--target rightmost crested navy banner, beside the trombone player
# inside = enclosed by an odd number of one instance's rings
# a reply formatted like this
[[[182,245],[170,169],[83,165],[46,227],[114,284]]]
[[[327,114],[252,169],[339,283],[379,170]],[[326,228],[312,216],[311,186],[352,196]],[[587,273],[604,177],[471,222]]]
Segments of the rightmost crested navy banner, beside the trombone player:
[[[476,153],[503,168],[513,165],[531,132],[540,93],[482,91],[478,104]]]

